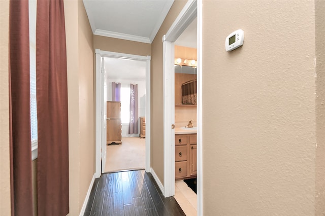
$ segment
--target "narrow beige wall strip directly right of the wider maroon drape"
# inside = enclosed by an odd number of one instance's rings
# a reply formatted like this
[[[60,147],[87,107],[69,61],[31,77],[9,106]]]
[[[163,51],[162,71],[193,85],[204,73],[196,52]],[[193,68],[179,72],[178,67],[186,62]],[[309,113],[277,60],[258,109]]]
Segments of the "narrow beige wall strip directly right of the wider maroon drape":
[[[64,1],[66,21],[68,67],[68,115],[69,115],[69,200],[70,215],[77,215],[80,208],[80,137],[79,137],[79,47],[78,2]]]

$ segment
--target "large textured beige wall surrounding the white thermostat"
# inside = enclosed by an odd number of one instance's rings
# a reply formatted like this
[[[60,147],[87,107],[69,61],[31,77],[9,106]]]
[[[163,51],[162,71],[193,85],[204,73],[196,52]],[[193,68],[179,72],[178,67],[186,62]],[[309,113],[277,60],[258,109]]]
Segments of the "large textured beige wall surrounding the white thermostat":
[[[324,213],[324,15],[316,70],[314,15],[313,1],[203,2],[205,215]],[[226,52],[238,28],[244,45]]]

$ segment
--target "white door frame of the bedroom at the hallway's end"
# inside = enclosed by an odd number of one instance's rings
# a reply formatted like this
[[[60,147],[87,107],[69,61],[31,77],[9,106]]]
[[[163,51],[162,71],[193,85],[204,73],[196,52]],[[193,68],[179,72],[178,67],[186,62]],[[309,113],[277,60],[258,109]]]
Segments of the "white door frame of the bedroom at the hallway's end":
[[[150,140],[151,140],[151,118],[150,118],[150,56],[141,56],[141,55],[132,55],[132,54],[125,54],[125,53],[116,53],[116,52],[109,52],[103,51],[100,49],[95,49],[96,54],[96,87],[95,87],[95,94],[96,94],[96,101],[95,101],[95,176],[101,176],[101,135],[103,131],[101,127],[101,97],[100,91],[100,83],[101,83],[101,76],[100,76],[100,63],[101,57],[113,57],[113,58],[126,58],[126,59],[134,59],[134,60],[141,60],[146,61],[146,172],[150,172]]]

